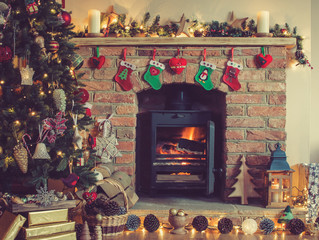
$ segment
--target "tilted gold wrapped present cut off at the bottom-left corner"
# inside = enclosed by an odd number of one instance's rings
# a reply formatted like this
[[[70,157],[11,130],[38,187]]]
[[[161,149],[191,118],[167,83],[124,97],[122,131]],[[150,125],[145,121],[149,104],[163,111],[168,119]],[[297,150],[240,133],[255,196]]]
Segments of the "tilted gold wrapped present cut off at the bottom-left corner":
[[[25,221],[25,217],[5,211],[0,218],[0,240],[15,239]]]

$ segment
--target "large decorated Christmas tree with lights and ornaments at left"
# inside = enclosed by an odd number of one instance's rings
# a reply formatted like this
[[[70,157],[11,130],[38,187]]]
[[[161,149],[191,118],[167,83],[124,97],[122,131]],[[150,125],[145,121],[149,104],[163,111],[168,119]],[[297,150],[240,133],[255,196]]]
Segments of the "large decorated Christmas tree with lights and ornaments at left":
[[[79,131],[93,121],[74,71],[81,57],[70,13],[55,0],[1,0],[0,11],[0,182],[91,185],[96,159]]]

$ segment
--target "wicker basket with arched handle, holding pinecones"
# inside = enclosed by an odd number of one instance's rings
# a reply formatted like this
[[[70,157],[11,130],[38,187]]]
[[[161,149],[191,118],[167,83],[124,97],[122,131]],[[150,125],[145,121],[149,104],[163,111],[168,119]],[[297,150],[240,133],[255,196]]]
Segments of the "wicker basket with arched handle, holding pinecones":
[[[124,231],[124,227],[128,217],[128,199],[122,185],[114,179],[105,178],[101,181],[98,181],[96,185],[101,185],[105,182],[116,186],[121,191],[124,199],[126,214],[117,216],[103,216],[102,221],[98,221],[95,216],[87,216],[85,214],[85,220],[88,222],[90,230],[94,229],[95,226],[101,226],[103,236],[116,236]]]

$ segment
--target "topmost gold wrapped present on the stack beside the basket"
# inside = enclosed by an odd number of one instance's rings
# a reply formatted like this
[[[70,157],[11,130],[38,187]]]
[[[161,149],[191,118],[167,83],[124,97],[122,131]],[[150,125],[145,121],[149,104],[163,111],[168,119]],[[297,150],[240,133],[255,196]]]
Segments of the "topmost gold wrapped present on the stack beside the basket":
[[[47,210],[28,213],[29,226],[68,221],[68,209]]]

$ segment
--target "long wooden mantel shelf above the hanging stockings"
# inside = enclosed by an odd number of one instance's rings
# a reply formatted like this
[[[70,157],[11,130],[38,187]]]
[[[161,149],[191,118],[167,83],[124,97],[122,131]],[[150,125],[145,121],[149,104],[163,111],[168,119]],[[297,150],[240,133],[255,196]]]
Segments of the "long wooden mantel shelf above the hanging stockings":
[[[73,38],[78,46],[282,46],[292,48],[296,38],[264,37],[131,37],[131,38]]]

